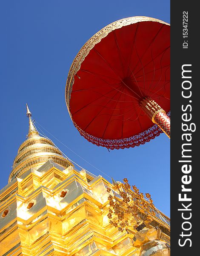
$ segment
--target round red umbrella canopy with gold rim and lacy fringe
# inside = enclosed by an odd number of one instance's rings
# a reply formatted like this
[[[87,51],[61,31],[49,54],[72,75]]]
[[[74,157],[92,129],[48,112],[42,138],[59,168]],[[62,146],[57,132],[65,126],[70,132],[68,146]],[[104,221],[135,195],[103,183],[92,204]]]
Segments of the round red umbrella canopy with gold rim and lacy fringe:
[[[134,147],[162,132],[140,106],[146,97],[170,111],[170,26],[150,17],[118,20],[95,34],[71,65],[71,119],[96,145]]]

